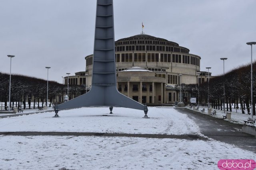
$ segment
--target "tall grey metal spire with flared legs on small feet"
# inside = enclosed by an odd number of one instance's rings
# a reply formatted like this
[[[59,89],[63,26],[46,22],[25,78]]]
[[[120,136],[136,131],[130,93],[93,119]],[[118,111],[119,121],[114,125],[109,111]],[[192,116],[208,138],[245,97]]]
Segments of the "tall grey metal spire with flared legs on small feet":
[[[55,117],[58,117],[59,109],[88,106],[140,109],[144,110],[144,117],[148,117],[146,105],[124,96],[116,88],[113,0],[97,0],[92,88],[86,94],[56,105],[54,107]]]

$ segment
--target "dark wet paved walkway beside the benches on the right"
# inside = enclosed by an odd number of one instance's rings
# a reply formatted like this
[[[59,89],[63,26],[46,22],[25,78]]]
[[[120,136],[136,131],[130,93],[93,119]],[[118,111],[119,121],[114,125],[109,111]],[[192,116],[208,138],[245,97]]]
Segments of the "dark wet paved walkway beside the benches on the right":
[[[176,107],[176,110],[194,120],[203,135],[256,153],[256,137],[243,133],[243,125],[230,123],[184,107]]]

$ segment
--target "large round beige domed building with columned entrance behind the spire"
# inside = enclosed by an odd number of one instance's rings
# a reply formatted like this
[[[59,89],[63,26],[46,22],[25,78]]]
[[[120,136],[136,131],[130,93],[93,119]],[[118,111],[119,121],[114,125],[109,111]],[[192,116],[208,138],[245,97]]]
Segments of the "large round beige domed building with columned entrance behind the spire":
[[[115,41],[115,51],[117,88],[140,103],[174,104],[180,101],[175,85],[198,83],[196,73],[200,72],[201,57],[190,54],[189,49],[178,43],[139,34]],[[85,59],[89,87],[93,55]],[[182,97],[182,101],[189,99],[187,93]]]

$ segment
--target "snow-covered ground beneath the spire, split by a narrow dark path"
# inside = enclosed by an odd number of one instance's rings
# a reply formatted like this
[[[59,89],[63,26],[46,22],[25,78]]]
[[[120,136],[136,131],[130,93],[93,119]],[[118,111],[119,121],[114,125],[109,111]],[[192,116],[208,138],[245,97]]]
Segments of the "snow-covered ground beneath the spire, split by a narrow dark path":
[[[26,109],[27,111],[28,109]],[[60,131],[202,135],[198,125],[172,107],[144,112],[85,107],[0,119],[0,131]],[[102,116],[108,115],[108,116]],[[0,169],[218,169],[220,159],[255,159],[256,154],[212,139],[97,136],[0,135]]]

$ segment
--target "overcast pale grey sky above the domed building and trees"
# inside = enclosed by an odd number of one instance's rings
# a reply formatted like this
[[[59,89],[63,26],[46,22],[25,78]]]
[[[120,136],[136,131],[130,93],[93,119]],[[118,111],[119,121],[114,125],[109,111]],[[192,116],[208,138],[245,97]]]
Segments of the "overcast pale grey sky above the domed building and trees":
[[[0,0],[0,72],[62,83],[93,53],[96,0]],[[212,75],[250,63],[256,0],[114,0],[115,40],[141,33],[174,41]],[[256,58],[256,45],[253,46]],[[253,59],[253,60],[254,60]]]

